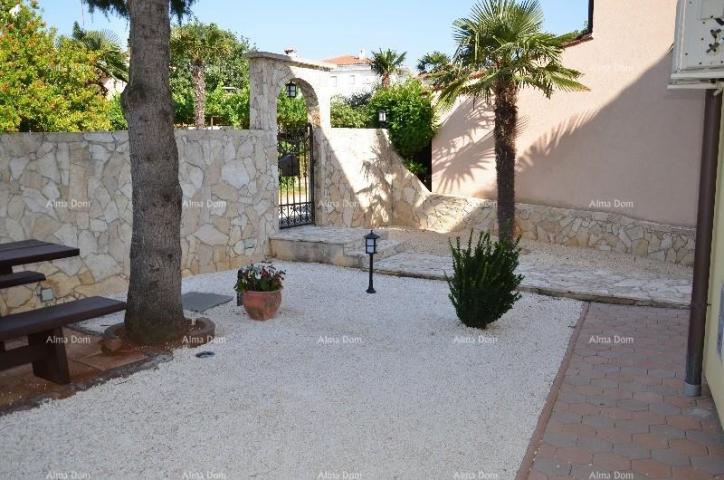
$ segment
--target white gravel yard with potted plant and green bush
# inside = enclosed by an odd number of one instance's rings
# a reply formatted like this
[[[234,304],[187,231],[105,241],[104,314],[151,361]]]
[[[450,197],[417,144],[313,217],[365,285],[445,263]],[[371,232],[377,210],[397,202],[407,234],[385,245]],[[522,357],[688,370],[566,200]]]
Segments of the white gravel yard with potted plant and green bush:
[[[526,294],[480,332],[444,282],[377,276],[368,295],[364,272],[279,265],[277,318],[206,313],[214,357],[183,349],[0,417],[0,478],[514,478],[579,302]],[[184,290],[230,293],[235,275]]]

